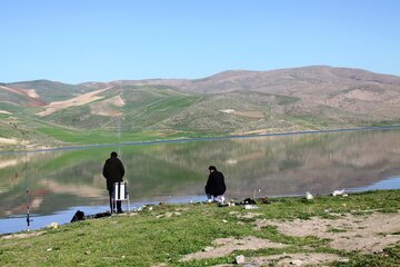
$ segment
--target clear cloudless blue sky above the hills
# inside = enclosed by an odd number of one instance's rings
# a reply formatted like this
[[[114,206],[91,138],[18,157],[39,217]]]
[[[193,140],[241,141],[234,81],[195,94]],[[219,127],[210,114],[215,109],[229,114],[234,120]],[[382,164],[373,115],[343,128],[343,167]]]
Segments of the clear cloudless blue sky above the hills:
[[[400,76],[398,0],[0,0],[0,82],[329,65]]]

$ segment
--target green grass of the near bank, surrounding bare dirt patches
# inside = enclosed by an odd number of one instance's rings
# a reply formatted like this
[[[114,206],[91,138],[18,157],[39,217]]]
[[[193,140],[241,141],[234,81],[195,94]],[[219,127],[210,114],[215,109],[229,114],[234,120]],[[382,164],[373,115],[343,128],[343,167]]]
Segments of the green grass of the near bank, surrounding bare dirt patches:
[[[329,239],[317,236],[294,237],[277,227],[256,230],[257,221],[278,220],[281,224],[318,217],[336,219],[352,215],[396,215],[400,208],[400,191],[374,191],[348,197],[317,197],[307,201],[299,197],[276,198],[271,204],[258,204],[257,216],[243,206],[218,207],[217,204],[158,205],[133,212],[90,219],[42,230],[39,236],[0,239],[2,266],[213,266],[231,264],[238,255],[247,259],[271,255],[331,254],[344,257],[332,266],[399,266],[400,245],[378,254],[332,248]],[[371,211],[373,210],[373,211]],[[347,229],[330,227],[332,234]],[[390,233],[392,236],[399,235]],[[381,234],[383,235],[383,234]],[[232,250],[228,255],[183,261],[187,255],[213,246],[217,238],[244,237],[268,239],[283,248]],[[324,265],[326,266],[326,265]]]

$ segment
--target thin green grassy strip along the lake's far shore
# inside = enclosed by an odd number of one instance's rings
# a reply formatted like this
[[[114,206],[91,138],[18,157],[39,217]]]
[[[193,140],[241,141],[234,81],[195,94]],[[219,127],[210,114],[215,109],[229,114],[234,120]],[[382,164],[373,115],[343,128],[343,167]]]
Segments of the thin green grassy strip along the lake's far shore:
[[[249,138],[249,137],[262,137],[262,136],[282,136],[282,135],[299,135],[299,134],[321,134],[321,132],[344,132],[344,131],[359,131],[359,130],[398,130],[400,125],[374,125],[366,127],[354,127],[354,128],[327,128],[327,129],[308,129],[300,131],[282,130],[274,132],[250,132],[250,134],[210,134],[210,132],[197,132],[197,131],[142,131],[142,132],[117,132],[102,131],[102,130],[87,130],[87,131],[76,131],[68,129],[59,128],[39,128],[38,130],[51,137],[52,140],[58,140],[58,142],[46,142],[41,144],[42,140],[38,142],[26,142],[22,139],[17,140],[17,144],[0,146],[0,151],[20,151],[20,150],[46,150],[54,148],[71,148],[71,147],[86,147],[86,146],[116,146],[116,145],[127,145],[133,142],[168,142],[168,141],[186,141],[186,140],[197,140],[197,139],[230,139],[230,138]],[[29,148],[29,149],[28,149]]]

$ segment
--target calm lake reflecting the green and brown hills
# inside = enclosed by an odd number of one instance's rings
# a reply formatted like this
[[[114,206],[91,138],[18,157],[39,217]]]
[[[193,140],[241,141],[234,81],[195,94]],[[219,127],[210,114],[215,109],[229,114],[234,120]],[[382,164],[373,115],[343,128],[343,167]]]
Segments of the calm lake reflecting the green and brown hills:
[[[227,198],[400,188],[400,130],[364,130],[0,154],[0,233],[68,222],[108,209],[102,166],[116,150],[131,207],[204,200],[208,166],[226,176]]]

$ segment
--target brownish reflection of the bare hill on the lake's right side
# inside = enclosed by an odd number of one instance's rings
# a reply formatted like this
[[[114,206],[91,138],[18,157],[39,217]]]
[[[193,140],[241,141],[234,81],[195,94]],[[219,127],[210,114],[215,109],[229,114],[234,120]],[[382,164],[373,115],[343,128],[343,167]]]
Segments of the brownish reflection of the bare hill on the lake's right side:
[[[234,180],[231,195],[250,195],[253,189],[267,196],[329,194],[374,184],[400,174],[399,137],[399,131],[301,137],[271,157],[271,168],[258,166],[248,179]],[[301,148],[307,139],[309,145]]]

